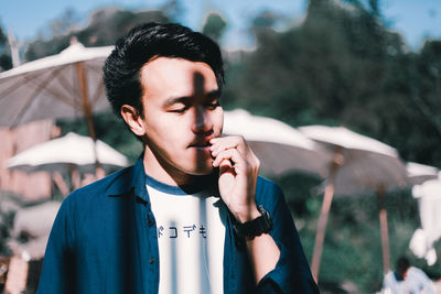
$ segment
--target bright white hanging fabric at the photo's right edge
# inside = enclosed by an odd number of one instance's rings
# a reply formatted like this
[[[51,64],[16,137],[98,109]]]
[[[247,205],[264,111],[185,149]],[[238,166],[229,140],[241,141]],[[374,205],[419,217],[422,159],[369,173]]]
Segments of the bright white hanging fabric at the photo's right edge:
[[[433,244],[441,238],[441,177],[415,185],[412,195],[419,203],[421,229],[415,231],[409,247],[432,265],[437,261]]]

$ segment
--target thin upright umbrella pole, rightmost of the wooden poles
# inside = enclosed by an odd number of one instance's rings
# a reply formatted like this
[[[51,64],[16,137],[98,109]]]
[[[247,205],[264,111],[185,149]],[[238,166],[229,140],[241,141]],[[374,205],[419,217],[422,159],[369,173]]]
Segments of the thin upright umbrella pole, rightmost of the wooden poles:
[[[387,225],[387,210],[385,206],[384,185],[380,185],[377,189],[377,200],[379,208],[379,226],[381,231],[383,272],[384,274],[387,274],[390,270],[390,252],[389,252],[389,230]]]

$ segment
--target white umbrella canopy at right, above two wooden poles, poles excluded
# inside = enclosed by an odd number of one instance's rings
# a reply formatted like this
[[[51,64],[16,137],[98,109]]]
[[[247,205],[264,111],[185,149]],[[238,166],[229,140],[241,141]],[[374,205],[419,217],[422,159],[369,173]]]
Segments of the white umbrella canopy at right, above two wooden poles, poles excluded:
[[[407,184],[406,166],[396,149],[343,127],[308,126],[300,128],[306,137],[341,155],[335,174],[334,193],[341,196],[358,195]],[[331,171],[327,173],[330,176]]]

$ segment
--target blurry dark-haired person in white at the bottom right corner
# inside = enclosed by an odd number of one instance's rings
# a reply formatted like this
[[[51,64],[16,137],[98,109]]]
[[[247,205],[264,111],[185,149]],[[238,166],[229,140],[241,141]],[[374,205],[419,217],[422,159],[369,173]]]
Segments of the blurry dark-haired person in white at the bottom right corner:
[[[423,271],[410,266],[409,260],[400,257],[397,260],[396,271],[385,276],[384,293],[406,294],[426,293],[433,294],[433,283]]]

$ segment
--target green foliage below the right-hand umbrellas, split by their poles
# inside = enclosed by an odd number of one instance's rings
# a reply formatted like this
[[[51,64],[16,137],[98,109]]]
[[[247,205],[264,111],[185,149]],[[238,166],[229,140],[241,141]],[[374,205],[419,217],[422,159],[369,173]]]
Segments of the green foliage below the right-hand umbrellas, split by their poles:
[[[282,187],[293,214],[306,258],[312,260],[323,195],[318,194],[320,179],[313,175],[293,173],[276,182]],[[408,249],[413,231],[420,227],[418,205],[410,189],[386,194],[390,261],[406,254],[411,264],[429,274],[437,266],[428,266]],[[378,292],[383,283],[381,238],[379,210],[375,194],[335,197],[332,204],[320,271],[320,287],[331,291],[343,283],[356,285],[359,293]],[[336,293],[332,292],[331,293]]]

